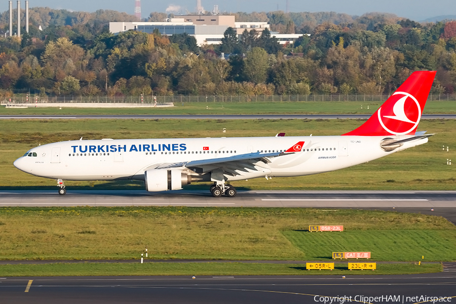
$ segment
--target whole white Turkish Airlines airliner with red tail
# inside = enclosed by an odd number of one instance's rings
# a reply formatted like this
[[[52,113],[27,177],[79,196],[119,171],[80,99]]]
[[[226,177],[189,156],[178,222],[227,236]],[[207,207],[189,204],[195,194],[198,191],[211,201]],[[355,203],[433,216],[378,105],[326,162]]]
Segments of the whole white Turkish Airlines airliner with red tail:
[[[436,71],[415,71],[357,129],[339,136],[99,139],[34,147],[14,162],[57,180],[142,180],[149,192],[212,182],[214,197],[236,196],[229,182],[317,174],[372,161],[428,142],[417,132]]]

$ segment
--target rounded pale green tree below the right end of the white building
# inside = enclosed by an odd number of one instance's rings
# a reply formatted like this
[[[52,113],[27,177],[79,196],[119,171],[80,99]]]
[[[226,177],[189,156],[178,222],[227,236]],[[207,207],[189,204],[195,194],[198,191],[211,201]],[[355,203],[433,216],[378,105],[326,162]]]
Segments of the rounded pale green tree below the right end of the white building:
[[[255,84],[262,84],[266,81],[268,74],[268,53],[262,48],[252,48],[247,52],[245,58],[244,73],[248,81]]]

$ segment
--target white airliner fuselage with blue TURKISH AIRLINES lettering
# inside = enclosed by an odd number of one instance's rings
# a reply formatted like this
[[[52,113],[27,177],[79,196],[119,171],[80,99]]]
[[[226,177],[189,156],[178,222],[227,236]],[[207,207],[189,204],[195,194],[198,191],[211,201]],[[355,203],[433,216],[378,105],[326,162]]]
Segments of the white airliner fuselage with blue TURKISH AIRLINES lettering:
[[[398,136],[390,136],[399,139]],[[400,139],[407,136],[401,136]],[[252,168],[225,175],[228,181],[255,177],[300,176],[361,164],[420,145],[427,138],[385,151],[386,136],[296,136],[240,138],[103,139],[55,142],[32,148],[14,162],[36,176],[64,180],[144,180],[144,172],[161,164],[227,158],[260,151],[285,151],[303,141],[302,150],[258,161]],[[34,156],[36,154],[36,156]],[[211,165],[210,171],[216,168]],[[203,168],[204,169],[204,168]]]

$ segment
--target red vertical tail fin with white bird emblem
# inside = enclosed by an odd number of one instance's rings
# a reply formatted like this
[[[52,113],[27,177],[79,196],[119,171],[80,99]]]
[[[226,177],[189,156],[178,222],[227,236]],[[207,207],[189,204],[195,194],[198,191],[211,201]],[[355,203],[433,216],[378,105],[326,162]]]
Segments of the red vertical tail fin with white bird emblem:
[[[343,135],[413,135],[420,123],[436,71],[413,72],[360,127]]]

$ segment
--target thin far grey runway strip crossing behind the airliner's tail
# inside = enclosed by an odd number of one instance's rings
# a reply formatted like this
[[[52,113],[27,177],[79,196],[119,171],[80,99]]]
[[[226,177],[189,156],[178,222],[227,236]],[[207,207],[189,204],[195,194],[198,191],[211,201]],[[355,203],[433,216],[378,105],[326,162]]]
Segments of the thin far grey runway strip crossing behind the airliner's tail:
[[[368,119],[371,115],[0,115],[5,119]],[[454,114],[424,114],[422,119],[456,119]]]

